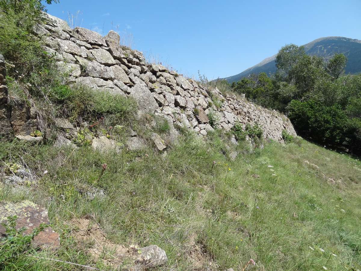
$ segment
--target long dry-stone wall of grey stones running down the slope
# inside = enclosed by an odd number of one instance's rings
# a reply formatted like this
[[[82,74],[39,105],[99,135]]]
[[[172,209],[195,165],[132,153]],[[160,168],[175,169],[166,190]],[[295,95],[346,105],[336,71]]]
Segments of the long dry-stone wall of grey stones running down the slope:
[[[99,91],[134,97],[140,112],[164,116],[172,125],[184,125],[205,136],[213,128],[210,112],[218,116],[218,127],[230,130],[235,122],[259,124],[264,137],[282,141],[282,130],[295,135],[290,120],[235,95],[209,91],[199,83],[162,65],[148,64],[141,52],[119,45],[119,35],[106,36],[76,27],[49,15],[52,22],[35,30],[44,49],[69,72],[69,82]],[[211,97],[212,99],[211,99]],[[215,104],[217,103],[217,104]],[[217,107],[216,107],[217,105]]]

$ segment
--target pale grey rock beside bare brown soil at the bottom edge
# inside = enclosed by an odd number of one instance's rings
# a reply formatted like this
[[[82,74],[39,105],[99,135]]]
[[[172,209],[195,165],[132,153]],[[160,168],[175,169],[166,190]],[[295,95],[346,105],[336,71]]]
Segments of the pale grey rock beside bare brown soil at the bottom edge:
[[[141,248],[138,253],[135,263],[142,264],[146,268],[162,266],[168,261],[165,251],[156,245]]]

